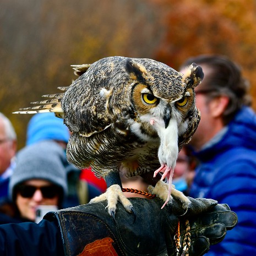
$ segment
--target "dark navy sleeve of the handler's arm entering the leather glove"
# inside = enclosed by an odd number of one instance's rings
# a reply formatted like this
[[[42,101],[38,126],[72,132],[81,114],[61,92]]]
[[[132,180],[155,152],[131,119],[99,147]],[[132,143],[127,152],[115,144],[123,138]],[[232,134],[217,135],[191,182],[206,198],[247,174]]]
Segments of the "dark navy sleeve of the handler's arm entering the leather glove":
[[[0,225],[1,256],[64,256],[61,232],[55,222]]]

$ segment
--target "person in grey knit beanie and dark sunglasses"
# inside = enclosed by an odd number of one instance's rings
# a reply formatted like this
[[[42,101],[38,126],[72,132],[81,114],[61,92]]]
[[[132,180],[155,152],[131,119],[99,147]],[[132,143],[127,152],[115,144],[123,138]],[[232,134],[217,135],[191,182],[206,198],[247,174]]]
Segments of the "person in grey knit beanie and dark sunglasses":
[[[42,205],[61,209],[67,193],[65,160],[63,150],[51,140],[21,149],[9,183],[11,202],[0,206],[6,214],[0,223],[35,221]]]

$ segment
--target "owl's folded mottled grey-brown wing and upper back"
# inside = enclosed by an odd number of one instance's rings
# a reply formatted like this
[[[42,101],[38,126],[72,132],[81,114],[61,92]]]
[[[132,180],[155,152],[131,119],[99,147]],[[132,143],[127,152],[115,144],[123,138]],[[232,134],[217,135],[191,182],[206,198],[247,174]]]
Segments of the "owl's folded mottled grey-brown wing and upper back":
[[[85,137],[100,133],[121,122],[120,98],[129,75],[124,70],[123,57],[104,58],[82,66],[75,66],[81,74],[61,101],[64,123],[69,130]]]

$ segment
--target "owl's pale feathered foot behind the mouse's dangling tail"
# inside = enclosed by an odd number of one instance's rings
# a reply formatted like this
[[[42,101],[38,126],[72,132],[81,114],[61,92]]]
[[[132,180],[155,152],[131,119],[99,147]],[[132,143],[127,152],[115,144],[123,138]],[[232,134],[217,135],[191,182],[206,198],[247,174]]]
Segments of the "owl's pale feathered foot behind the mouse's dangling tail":
[[[190,201],[189,199],[186,197],[186,195],[184,195],[181,191],[177,190],[175,188],[174,185],[171,184],[171,195],[177,199],[179,199],[181,202],[182,202],[182,208],[185,210],[185,213],[187,212],[188,210],[188,205],[190,204]],[[172,200],[172,196],[169,194],[169,187],[168,187],[168,184],[166,184],[165,182],[163,181],[158,181],[156,183],[156,186],[153,187],[153,186],[149,186],[148,187],[148,191],[151,193],[151,194],[155,194],[157,195],[157,197],[161,198],[162,200],[165,201],[165,204],[162,206],[162,208],[164,208],[164,206]],[[161,208],[161,209],[162,209]],[[185,214],[184,213],[184,214]]]

